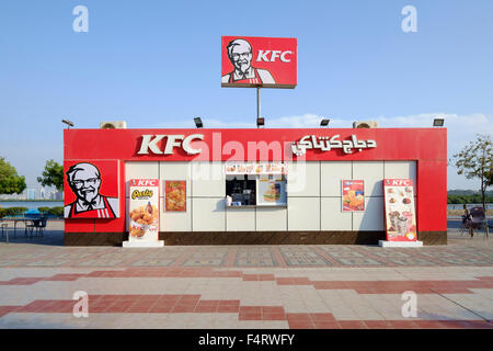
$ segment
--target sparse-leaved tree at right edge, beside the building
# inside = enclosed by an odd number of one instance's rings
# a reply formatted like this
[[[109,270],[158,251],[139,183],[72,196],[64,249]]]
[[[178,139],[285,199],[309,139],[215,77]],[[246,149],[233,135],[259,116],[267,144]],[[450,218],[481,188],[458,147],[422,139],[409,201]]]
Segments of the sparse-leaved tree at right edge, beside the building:
[[[452,156],[458,174],[467,179],[479,178],[481,180],[481,200],[484,211],[486,188],[491,185],[491,170],[493,167],[493,146],[490,135],[478,135],[474,141],[470,141],[465,148]]]

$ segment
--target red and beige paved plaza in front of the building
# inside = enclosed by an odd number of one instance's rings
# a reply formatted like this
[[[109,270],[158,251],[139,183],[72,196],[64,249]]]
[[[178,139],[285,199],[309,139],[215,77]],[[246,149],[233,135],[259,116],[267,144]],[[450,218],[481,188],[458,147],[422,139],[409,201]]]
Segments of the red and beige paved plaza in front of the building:
[[[89,295],[76,318],[73,293]],[[417,295],[403,317],[402,293]],[[0,328],[493,328],[493,245],[64,247],[0,242]]]

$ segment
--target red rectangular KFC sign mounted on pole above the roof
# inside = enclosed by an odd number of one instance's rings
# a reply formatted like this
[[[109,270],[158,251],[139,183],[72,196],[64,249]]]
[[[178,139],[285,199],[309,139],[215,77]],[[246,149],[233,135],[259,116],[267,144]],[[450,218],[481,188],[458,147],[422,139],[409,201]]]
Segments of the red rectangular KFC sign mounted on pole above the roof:
[[[295,88],[296,38],[222,36],[221,87]]]

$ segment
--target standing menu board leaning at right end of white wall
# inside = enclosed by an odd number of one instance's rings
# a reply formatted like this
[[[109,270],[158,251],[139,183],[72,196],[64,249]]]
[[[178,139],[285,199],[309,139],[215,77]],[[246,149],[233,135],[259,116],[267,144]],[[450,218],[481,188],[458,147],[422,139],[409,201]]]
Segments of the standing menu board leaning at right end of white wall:
[[[411,179],[385,179],[387,241],[416,241],[414,190]]]

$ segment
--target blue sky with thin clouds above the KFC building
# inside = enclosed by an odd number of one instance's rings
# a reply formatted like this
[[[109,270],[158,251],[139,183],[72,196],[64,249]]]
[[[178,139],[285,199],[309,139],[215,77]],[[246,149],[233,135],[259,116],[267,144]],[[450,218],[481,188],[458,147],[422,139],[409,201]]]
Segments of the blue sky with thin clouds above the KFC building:
[[[89,9],[89,32],[72,9]],[[403,33],[401,10],[417,9]],[[449,154],[493,132],[493,1],[94,1],[0,3],[0,155],[28,185],[62,160],[62,125],[253,126],[255,90],[220,87],[221,35],[298,38],[298,87],[264,89],[266,127],[446,117]],[[237,109],[251,101],[244,109]],[[478,189],[449,167],[448,188]]]

